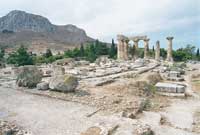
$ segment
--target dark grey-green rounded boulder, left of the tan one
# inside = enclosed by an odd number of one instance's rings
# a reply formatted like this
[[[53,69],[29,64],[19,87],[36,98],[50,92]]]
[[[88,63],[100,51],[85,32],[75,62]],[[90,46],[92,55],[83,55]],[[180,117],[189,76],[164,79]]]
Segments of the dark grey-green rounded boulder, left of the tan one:
[[[35,66],[23,66],[17,72],[16,84],[19,87],[36,87],[42,80],[42,73]]]

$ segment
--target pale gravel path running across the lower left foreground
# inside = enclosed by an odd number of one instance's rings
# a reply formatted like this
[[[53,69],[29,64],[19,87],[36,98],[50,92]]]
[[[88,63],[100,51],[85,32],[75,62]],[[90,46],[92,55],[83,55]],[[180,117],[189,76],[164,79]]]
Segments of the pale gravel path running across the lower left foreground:
[[[96,108],[87,105],[0,87],[0,120],[14,122],[32,135],[80,135],[86,129],[99,125],[106,131],[119,125],[118,135],[133,135],[136,131],[143,131],[143,127],[146,129],[137,120],[117,114],[93,114],[95,111]]]

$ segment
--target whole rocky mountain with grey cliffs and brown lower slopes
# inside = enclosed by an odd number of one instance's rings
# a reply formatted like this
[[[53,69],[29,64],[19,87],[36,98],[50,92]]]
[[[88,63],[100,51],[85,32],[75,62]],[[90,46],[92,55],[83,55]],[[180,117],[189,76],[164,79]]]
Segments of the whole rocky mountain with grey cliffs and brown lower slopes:
[[[39,53],[46,48],[59,51],[91,41],[83,29],[54,25],[45,17],[24,11],[14,10],[0,18],[0,45],[8,48],[23,44]]]

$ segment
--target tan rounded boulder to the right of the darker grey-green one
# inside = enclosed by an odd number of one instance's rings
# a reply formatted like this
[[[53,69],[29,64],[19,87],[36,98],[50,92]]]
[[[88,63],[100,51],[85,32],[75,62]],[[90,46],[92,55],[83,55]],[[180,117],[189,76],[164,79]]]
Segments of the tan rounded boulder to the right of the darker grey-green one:
[[[58,75],[50,80],[49,88],[61,92],[73,92],[78,86],[78,80],[72,75]]]

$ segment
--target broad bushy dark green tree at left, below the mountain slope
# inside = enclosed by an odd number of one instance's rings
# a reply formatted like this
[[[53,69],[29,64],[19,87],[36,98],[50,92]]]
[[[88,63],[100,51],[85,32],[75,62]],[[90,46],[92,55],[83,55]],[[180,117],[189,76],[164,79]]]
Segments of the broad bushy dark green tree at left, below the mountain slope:
[[[33,65],[33,58],[24,46],[20,46],[16,52],[9,54],[7,63],[17,66]]]

